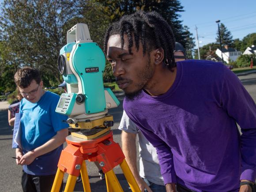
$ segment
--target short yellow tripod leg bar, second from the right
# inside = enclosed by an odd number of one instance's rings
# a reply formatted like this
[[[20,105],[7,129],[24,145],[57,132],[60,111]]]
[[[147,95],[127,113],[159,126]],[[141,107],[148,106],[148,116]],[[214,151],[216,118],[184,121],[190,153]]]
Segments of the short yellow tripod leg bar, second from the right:
[[[110,190],[110,192],[112,192],[113,189],[115,190],[115,192],[124,192],[123,189],[121,188],[119,181],[117,180],[116,174],[112,169],[107,173],[105,173],[105,177],[106,177],[107,188],[108,190]]]

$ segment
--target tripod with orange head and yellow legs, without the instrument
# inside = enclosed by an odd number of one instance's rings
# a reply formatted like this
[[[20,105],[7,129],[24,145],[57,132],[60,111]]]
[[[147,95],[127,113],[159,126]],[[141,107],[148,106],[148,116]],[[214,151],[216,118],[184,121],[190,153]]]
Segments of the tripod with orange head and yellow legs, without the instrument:
[[[51,192],[59,192],[65,172],[69,176],[64,192],[73,192],[76,177],[79,176],[79,173],[81,173],[84,191],[90,192],[85,160],[99,162],[105,173],[108,192],[123,192],[113,171],[113,168],[117,165],[120,165],[132,192],[140,192],[119,144],[113,141],[112,131],[105,132],[103,135],[90,140],[70,135],[66,138],[66,141],[68,146],[61,152]]]

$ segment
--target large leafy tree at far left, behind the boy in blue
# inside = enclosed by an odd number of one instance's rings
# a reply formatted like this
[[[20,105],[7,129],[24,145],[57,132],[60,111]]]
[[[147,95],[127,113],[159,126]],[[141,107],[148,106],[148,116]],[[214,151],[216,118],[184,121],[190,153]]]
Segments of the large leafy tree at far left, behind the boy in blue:
[[[64,26],[76,15],[75,5],[72,0],[4,0],[2,5],[0,39],[8,42],[19,67],[38,68],[46,86],[61,81],[56,61],[66,44]]]

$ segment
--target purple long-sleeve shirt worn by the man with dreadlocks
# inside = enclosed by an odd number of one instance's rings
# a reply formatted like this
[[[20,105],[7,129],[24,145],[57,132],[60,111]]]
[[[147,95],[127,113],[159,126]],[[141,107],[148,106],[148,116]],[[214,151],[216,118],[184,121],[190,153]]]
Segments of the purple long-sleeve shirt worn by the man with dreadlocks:
[[[227,192],[238,191],[240,179],[255,181],[256,105],[223,64],[177,62],[165,94],[125,99],[124,110],[156,147],[165,184]]]

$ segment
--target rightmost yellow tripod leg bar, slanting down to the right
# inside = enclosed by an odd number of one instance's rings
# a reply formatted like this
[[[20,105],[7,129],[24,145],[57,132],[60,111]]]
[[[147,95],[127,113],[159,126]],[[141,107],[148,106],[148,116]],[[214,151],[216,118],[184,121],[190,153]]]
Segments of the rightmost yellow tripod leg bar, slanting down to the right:
[[[123,170],[124,176],[128,184],[130,185],[132,192],[141,192],[139,189],[139,185],[137,184],[135,178],[133,177],[131,169],[129,168],[125,159],[123,162],[121,162],[120,167]]]

